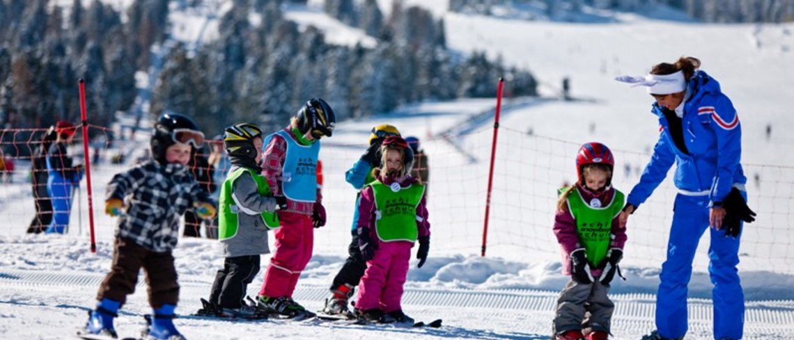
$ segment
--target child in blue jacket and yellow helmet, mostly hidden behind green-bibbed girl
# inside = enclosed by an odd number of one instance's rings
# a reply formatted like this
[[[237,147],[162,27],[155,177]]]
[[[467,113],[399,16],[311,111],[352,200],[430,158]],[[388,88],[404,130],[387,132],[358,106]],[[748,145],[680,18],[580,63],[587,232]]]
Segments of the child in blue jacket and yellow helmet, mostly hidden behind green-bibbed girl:
[[[353,212],[353,226],[350,232],[353,236],[350,245],[348,246],[349,256],[345,260],[345,264],[339,269],[336,277],[333,277],[331,284],[331,296],[326,299],[326,307],[323,312],[330,315],[350,315],[348,308],[348,300],[355,288],[364,276],[364,270],[367,269],[367,262],[361,258],[361,250],[358,248],[358,204],[360,203],[361,188],[364,185],[375,181],[372,177],[372,169],[380,167],[380,146],[388,136],[400,136],[399,130],[389,124],[380,124],[372,127],[372,133],[369,135],[369,147],[364,151],[347,172],[345,173],[345,181],[353,185],[353,188],[358,190],[356,197],[355,210]]]

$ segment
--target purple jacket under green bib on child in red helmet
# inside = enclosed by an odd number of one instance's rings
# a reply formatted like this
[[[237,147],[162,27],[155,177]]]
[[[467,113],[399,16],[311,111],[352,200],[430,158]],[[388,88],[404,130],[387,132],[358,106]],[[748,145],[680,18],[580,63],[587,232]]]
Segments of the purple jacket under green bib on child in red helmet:
[[[579,190],[585,202],[589,202],[593,198],[599,198],[602,202],[609,202],[615,195],[615,189],[612,187],[600,195],[595,195],[595,193],[590,192],[590,190],[581,185],[577,185],[576,190]],[[565,209],[565,211],[558,210],[554,216],[554,235],[557,236],[557,242],[560,243],[562,248],[562,273],[571,275],[571,252],[583,246],[579,243],[579,235],[576,235],[576,220],[573,220],[573,216],[568,209]],[[619,227],[617,216],[612,220],[612,235],[615,235],[615,238],[612,239],[610,248],[622,250],[623,245],[626,244],[626,228]],[[601,275],[601,269],[590,268],[590,270],[593,277]]]

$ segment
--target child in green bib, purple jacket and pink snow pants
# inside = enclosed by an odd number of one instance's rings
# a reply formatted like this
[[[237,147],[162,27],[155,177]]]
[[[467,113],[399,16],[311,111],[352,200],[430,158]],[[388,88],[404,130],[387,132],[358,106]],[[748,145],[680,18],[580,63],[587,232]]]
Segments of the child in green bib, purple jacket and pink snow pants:
[[[410,176],[408,143],[399,136],[384,139],[375,181],[361,189],[358,207],[358,244],[367,262],[356,300],[356,314],[377,323],[414,323],[403,312],[403,285],[410,249],[418,241],[416,258],[422,268],[430,250],[425,186]]]

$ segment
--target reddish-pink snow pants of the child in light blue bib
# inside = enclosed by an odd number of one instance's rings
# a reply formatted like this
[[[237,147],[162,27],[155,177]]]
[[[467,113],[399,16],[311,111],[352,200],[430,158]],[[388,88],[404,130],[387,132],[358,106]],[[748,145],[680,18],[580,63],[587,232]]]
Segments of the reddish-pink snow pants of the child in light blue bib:
[[[259,295],[292,297],[301,271],[311,259],[314,248],[314,225],[311,216],[279,212],[281,227],[276,229],[276,251],[264,272]]]

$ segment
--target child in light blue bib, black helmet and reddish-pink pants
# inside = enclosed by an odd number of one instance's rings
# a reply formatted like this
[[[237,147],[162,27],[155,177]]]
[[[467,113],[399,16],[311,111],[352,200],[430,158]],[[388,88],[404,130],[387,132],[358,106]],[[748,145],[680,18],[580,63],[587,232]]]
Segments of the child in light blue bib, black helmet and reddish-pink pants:
[[[322,99],[306,101],[286,128],[265,139],[264,177],[279,204],[276,251],[264,273],[257,308],[303,318],[314,313],[292,300],[314,247],[314,227],[326,225],[317,184],[320,139],[330,137],[337,118]]]

